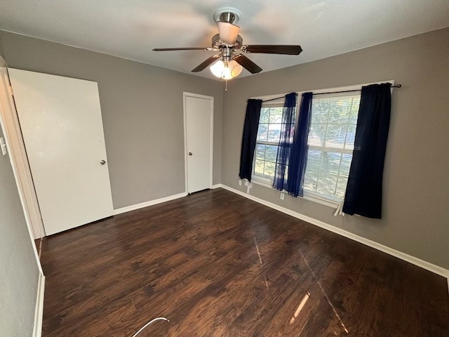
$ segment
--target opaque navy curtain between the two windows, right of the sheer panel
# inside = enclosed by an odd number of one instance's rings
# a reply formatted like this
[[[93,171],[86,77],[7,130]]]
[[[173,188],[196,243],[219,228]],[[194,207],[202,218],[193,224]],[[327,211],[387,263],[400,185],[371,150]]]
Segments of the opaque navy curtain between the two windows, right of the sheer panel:
[[[288,179],[286,190],[293,197],[304,195],[302,186],[304,185],[304,173],[307,165],[307,139],[311,121],[311,101],[313,93],[303,93],[300,107],[300,115],[297,120],[297,128],[290,150],[288,163]]]

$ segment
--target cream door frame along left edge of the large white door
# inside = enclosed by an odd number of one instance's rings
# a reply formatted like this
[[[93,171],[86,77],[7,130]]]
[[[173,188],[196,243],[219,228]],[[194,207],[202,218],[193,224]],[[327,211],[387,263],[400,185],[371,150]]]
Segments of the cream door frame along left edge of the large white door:
[[[1,60],[4,61],[3,59]],[[11,164],[17,176],[16,179],[18,180],[21,198],[23,199],[29,230],[34,239],[39,239],[45,237],[46,234],[36,190],[34,189],[31,169],[29,168],[25,143],[22,138],[20,122],[17,110],[15,110],[13,89],[9,80],[6,62],[1,62],[0,64],[0,104],[0,118],[4,122],[5,138],[7,138],[6,142],[11,151]]]

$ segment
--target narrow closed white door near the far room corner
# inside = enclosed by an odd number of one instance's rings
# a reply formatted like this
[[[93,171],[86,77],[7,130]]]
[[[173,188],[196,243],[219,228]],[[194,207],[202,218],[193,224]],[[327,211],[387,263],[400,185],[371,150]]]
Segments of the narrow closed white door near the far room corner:
[[[187,192],[212,187],[213,98],[185,93]]]

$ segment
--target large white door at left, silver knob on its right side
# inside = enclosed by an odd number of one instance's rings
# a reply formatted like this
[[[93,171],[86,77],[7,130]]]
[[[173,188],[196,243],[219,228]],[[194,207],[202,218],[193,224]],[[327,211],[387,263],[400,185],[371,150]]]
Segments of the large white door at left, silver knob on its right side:
[[[8,72],[46,234],[112,216],[97,83]]]

